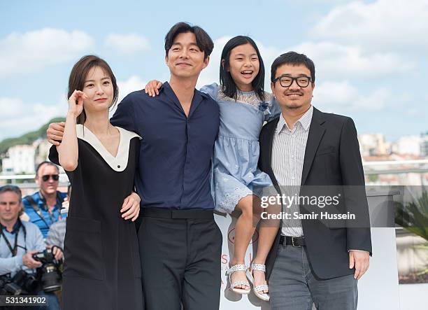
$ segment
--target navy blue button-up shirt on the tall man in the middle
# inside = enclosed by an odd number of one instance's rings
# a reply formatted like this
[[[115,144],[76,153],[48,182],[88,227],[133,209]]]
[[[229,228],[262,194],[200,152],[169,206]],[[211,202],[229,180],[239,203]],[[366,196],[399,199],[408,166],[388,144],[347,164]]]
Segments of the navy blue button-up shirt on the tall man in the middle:
[[[194,90],[186,117],[169,83],[159,96],[132,92],[110,122],[141,141],[136,190],[141,207],[213,209],[211,158],[220,125],[218,104]]]

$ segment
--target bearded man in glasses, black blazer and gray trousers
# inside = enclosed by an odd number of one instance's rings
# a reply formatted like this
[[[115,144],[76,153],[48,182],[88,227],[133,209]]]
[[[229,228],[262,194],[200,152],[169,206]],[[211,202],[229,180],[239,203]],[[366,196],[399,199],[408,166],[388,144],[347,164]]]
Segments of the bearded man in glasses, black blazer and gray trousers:
[[[357,280],[371,255],[357,132],[351,118],[311,105],[314,87],[315,65],[306,55],[287,52],[273,62],[271,89],[282,113],[260,133],[259,167],[283,195],[338,189],[338,205],[322,211],[357,218],[320,220],[318,212],[302,219],[311,213],[303,204],[285,208],[291,216],[282,219],[266,261],[271,308],[312,309],[314,302],[318,309],[357,309]]]

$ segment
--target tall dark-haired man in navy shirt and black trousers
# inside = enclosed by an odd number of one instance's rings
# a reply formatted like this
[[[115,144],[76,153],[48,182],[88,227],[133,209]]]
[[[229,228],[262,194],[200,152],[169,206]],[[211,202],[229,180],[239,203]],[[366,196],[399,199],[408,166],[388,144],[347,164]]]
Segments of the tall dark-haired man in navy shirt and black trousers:
[[[136,190],[145,309],[219,309],[222,234],[213,217],[211,157],[219,107],[194,87],[213,41],[200,27],[175,24],[165,37],[171,71],[159,96],[132,92],[110,122],[141,141]],[[50,125],[52,144],[63,126]],[[120,206],[118,206],[119,208]]]

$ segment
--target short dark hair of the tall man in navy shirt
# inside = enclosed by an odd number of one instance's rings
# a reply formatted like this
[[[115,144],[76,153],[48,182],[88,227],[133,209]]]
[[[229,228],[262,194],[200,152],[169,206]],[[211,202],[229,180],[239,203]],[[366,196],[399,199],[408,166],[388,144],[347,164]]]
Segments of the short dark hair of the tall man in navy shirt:
[[[206,33],[204,29],[199,26],[191,26],[188,22],[178,22],[169,29],[165,36],[165,55],[168,56],[168,52],[173,45],[174,39],[178,34],[185,34],[186,32],[192,32],[197,38],[197,45],[201,51],[204,52],[204,59],[211,55],[214,48],[213,40]]]

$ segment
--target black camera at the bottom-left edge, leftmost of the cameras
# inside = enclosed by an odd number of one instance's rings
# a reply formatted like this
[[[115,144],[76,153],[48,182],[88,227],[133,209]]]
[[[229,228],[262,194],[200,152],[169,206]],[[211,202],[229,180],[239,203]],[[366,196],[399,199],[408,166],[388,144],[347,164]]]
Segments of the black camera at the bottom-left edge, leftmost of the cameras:
[[[20,270],[15,276],[0,276],[0,295],[32,294],[38,290],[38,281],[32,274]]]

